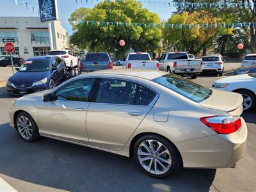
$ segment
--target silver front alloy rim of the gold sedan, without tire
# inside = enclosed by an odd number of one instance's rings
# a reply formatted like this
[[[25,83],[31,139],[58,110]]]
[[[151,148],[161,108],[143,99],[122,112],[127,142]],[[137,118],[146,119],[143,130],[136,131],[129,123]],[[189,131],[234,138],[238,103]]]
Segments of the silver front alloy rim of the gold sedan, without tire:
[[[25,140],[29,140],[33,136],[33,127],[31,122],[26,116],[19,116],[17,120],[17,128],[20,133],[20,136]]]

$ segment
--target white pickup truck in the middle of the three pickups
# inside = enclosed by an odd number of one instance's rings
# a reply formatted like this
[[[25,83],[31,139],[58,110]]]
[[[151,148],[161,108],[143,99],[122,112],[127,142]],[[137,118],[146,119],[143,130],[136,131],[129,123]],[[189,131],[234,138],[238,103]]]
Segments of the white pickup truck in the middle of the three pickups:
[[[130,52],[125,60],[125,68],[158,70],[158,61],[151,61],[147,52]]]

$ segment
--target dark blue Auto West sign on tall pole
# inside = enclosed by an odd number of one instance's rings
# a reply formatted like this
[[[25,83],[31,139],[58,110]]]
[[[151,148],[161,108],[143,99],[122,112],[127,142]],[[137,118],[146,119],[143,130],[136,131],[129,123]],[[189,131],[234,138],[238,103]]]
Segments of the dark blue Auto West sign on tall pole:
[[[55,0],[38,0],[41,22],[57,20]]]

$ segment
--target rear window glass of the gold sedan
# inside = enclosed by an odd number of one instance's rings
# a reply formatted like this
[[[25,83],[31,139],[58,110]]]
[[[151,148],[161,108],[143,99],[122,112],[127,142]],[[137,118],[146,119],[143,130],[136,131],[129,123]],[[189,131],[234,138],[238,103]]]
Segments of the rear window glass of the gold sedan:
[[[161,84],[174,92],[187,97],[195,102],[201,102],[210,97],[212,90],[174,74],[166,74],[156,79],[155,83]]]

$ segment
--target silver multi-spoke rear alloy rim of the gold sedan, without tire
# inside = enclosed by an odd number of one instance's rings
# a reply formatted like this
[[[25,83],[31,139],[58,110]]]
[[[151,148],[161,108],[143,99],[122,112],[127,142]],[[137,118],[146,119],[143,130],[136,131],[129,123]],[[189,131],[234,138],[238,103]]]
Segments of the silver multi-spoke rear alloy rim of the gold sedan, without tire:
[[[155,175],[162,175],[172,165],[172,157],[168,148],[156,140],[145,140],[138,147],[138,160],[141,166]]]

